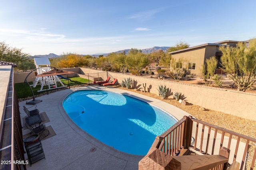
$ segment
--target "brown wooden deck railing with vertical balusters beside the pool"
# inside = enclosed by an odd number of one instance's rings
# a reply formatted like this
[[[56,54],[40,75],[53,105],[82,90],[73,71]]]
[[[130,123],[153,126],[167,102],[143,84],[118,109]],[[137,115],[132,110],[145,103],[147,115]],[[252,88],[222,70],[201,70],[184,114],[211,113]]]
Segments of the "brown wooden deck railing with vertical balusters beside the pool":
[[[221,147],[230,149],[229,164],[240,163],[240,170],[253,170],[256,158],[256,139],[184,116],[162,135],[157,136],[150,150],[158,148],[176,156],[182,148],[197,154],[219,154]],[[150,152],[150,151],[149,151]],[[246,162],[247,160],[247,162]]]

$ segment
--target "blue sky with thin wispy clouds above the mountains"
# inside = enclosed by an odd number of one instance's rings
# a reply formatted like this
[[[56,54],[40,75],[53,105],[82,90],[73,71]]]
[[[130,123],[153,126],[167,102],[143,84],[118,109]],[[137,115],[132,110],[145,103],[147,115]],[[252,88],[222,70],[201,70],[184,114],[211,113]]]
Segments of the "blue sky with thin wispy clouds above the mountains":
[[[0,42],[30,55],[190,47],[256,36],[255,0],[2,0]]]

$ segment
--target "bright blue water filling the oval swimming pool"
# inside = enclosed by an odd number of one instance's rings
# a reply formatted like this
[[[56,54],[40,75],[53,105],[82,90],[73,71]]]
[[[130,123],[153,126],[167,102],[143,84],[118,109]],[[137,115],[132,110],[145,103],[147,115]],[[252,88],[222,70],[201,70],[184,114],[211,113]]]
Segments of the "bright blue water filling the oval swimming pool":
[[[80,90],[63,107],[84,131],[122,152],[146,155],[157,135],[177,121],[135,98],[104,90]]]

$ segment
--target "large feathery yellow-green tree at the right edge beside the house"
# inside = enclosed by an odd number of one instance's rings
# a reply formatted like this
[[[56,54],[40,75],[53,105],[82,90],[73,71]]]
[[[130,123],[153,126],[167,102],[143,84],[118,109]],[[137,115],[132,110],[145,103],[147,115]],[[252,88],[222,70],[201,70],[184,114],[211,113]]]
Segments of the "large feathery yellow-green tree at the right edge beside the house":
[[[256,39],[239,42],[236,47],[221,46],[221,63],[228,76],[238,86],[239,91],[254,89],[256,82]]]

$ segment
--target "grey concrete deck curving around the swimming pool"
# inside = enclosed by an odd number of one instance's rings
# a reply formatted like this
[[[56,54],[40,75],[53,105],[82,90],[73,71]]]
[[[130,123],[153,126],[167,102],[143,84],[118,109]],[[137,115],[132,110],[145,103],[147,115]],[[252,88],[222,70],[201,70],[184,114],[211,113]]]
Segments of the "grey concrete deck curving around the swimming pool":
[[[125,94],[127,96],[132,96],[164,109],[178,120],[180,120],[184,115],[190,115],[185,111],[160,100],[135,92],[121,90],[115,87],[105,88],[102,86],[85,86],[61,90],[48,95],[40,96],[36,99],[42,100],[42,102],[36,104],[36,108],[40,110],[40,113],[46,112],[50,121],[45,123],[45,125],[46,127],[51,125],[56,135],[42,141],[45,159],[32,164],[32,166],[28,164],[26,166],[28,170],[138,169],[138,162],[144,156],[127,154],[105,145],[80,129],[80,127],[78,127],[66,114],[62,106],[62,101],[64,98],[74,91],[83,89],[109,90],[112,92]],[[22,118],[26,116],[23,106],[26,106],[27,108],[33,106],[26,105],[26,102],[28,101],[31,101],[31,99],[19,102],[21,121]],[[28,134],[29,132],[30,131],[28,129],[22,129],[23,135]],[[92,148],[96,148],[96,151],[91,152]],[[26,154],[25,158],[28,160]]]

